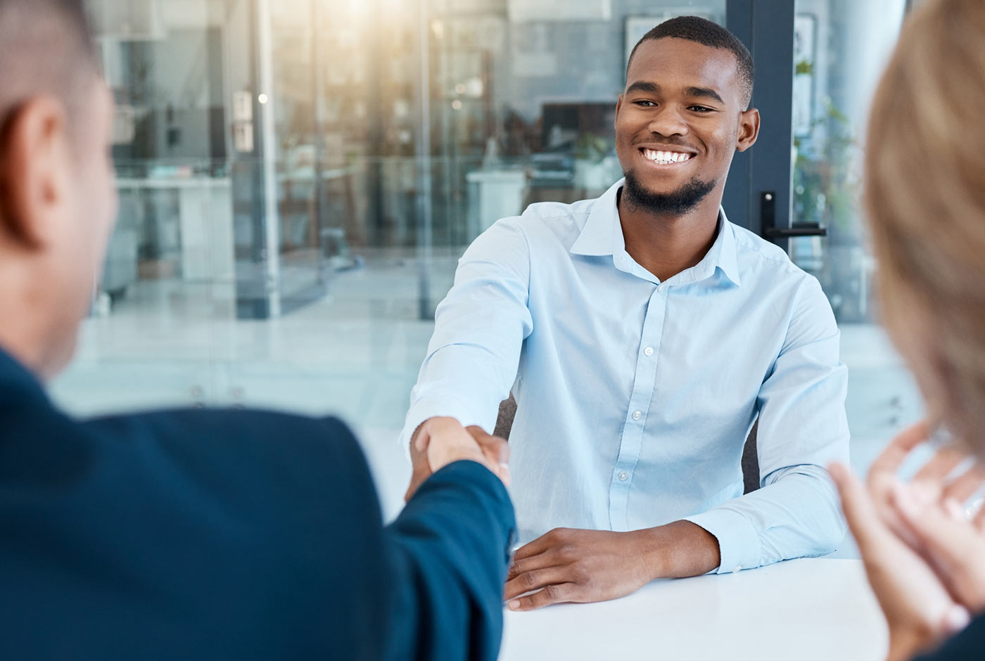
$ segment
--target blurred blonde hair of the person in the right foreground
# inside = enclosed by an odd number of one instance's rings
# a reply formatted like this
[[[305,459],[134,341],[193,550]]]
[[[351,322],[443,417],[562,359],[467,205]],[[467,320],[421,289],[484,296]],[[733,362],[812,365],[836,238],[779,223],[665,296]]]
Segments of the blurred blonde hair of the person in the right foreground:
[[[985,2],[916,10],[869,124],[886,327],[935,417],[985,457]]]

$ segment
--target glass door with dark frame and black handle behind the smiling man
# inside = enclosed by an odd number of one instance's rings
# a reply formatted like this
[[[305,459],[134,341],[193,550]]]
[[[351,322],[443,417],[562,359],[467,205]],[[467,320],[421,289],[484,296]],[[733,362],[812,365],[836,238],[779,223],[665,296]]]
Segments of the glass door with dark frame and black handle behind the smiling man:
[[[747,227],[786,248],[821,282],[849,370],[852,466],[860,474],[923,409],[909,371],[879,325],[878,293],[872,289],[876,263],[862,211],[868,108],[909,4],[729,3],[729,27],[753,45],[754,104],[764,133],[733,166],[726,210],[731,204],[738,218],[745,212]],[[768,5],[769,11],[752,12],[743,34],[753,5]],[[856,554],[849,540],[836,555]]]

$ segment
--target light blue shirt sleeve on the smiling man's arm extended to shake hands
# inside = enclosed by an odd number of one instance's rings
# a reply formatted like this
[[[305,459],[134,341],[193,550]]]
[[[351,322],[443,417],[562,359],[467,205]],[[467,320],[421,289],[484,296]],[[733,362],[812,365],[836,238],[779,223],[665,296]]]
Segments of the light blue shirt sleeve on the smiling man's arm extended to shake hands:
[[[399,438],[405,450],[414,430],[435,416],[493,431],[499,402],[516,378],[523,340],[533,331],[527,307],[530,251],[519,220],[495,223],[458,262],[411,391]]]

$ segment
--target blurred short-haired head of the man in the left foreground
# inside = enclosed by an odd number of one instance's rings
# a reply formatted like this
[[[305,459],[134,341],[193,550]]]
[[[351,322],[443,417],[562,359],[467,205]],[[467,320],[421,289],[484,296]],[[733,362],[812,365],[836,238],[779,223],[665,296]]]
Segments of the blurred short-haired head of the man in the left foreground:
[[[68,363],[116,196],[112,100],[82,0],[0,0],[0,348]]]

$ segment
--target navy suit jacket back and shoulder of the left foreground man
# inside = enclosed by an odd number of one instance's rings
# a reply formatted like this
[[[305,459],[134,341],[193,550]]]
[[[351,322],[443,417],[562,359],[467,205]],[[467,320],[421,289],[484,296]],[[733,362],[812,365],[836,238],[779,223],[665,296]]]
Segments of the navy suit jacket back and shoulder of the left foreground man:
[[[390,559],[338,421],[0,422],[7,658],[382,658]]]

